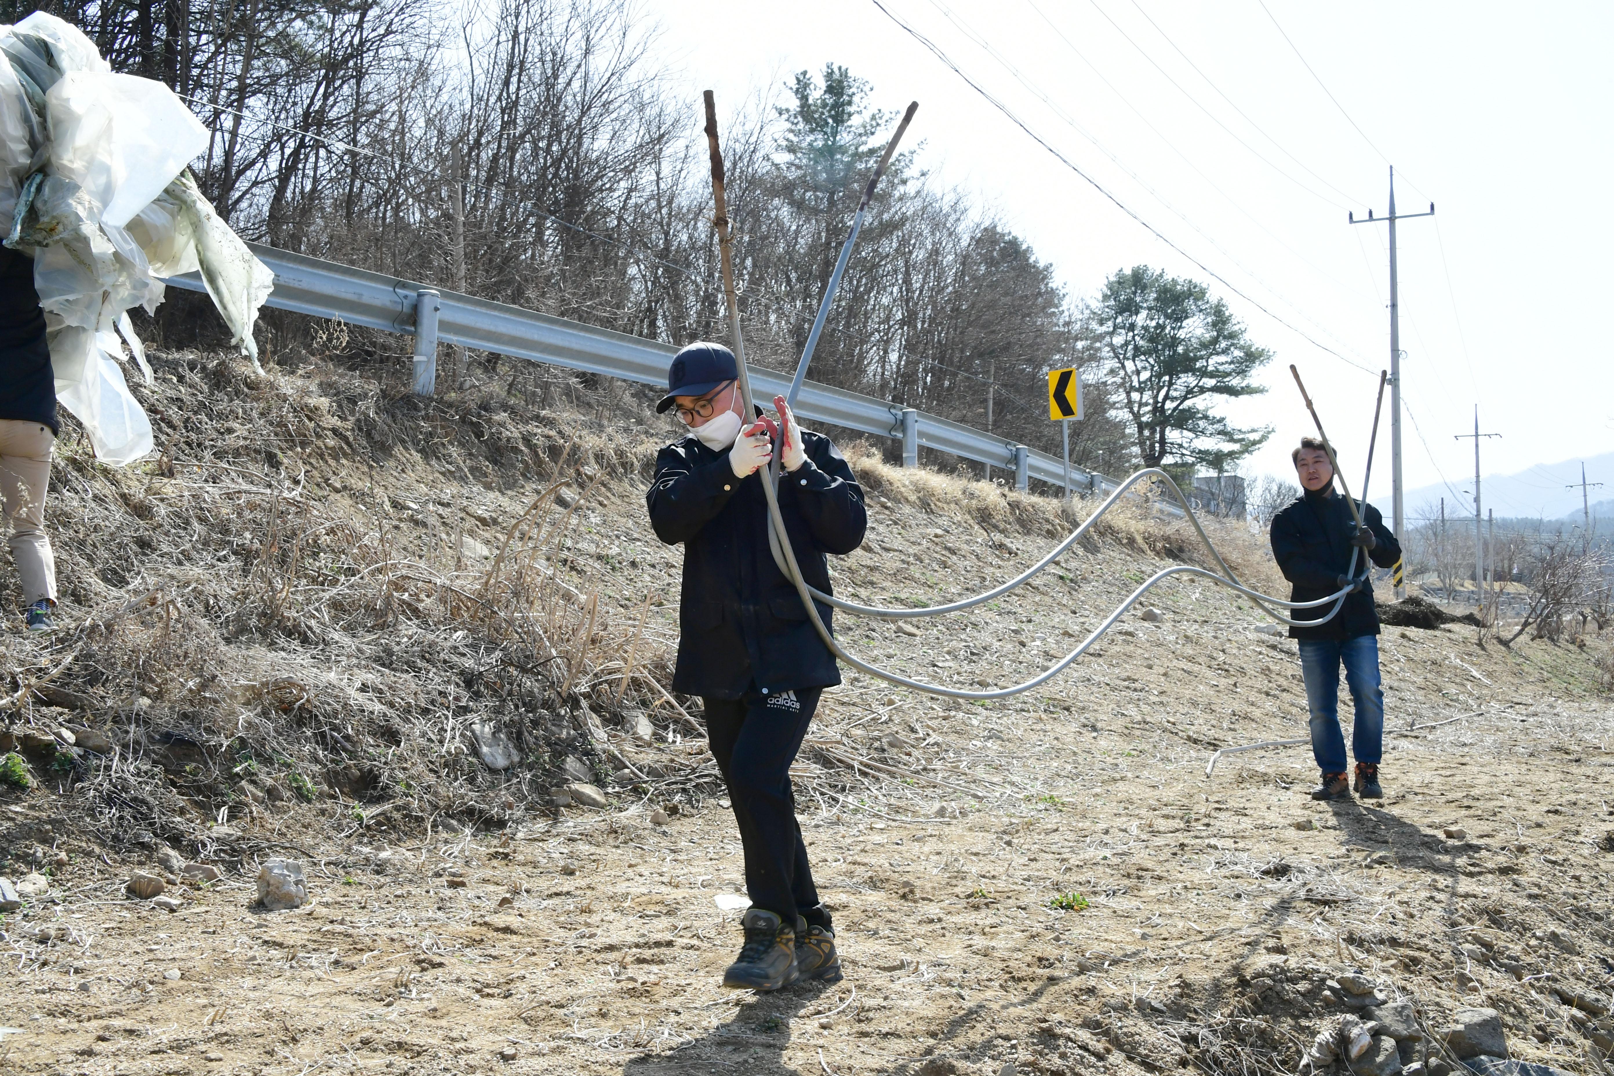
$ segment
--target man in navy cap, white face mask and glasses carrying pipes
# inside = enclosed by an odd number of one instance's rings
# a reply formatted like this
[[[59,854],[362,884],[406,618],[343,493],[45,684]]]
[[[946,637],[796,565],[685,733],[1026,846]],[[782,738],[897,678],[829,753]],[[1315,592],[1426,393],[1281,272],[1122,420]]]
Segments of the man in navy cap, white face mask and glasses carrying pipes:
[[[728,784],[746,852],[746,942],[723,986],[776,991],[841,979],[830,910],[818,900],[796,823],[789,768],[825,687],[841,682],[794,584],[768,552],[762,482],[780,445],[780,511],[802,576],[830,590],[826,553],[851,553],[868,518],[863,490],[822,434],[801,429],[783,397],[744,426],[734,353],[691,344],[667,374],[657,411],[678,408],[689,434],[655,458],[650,526],[684,544],[673,690],[700,695],[707,739]],[[830,624],[830,607],[817,603]]]

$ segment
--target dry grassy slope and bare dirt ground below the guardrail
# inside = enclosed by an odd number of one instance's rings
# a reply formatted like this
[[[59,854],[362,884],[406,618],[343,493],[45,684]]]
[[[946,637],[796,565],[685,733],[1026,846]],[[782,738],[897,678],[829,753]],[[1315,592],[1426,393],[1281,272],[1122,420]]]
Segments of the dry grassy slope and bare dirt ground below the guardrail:
[[[0,786],[0,874],[48,878],[0,924],[16,1071],[1294,1073],[1359,1007],[1344,973],[1432,1034],[1483,1005],[1514,1057],[1604,1071],[1614,715],[1580,649],[1388,631],[1377,805],[1309,802],[1304,747],[1206,776],[1304,736],[1304,707],[1293,644],[1204,581],[1009,702],[849,674],[796,769],[847,979],[725,995],[713,895],[742,865],[697,700],[663,690],[679,550],[642,508],[668,427],[620,389],[533,413],[153,365],[161,460],[63,439],[68,631],[0,637],[32,778]],[[1073,521],[851,457],[870,540],[836,586],[860,600],[976,592]],[[1278,586],[1261,536],[1214,534]],[[975,615],[841,631],[1007,684],[1185,557],[1131,505]],[[555,807],[578,776],[610,805]],[[173,913],[123,894],[163,845],[221,871]],[[312,905],[252,907],[271,855]]]

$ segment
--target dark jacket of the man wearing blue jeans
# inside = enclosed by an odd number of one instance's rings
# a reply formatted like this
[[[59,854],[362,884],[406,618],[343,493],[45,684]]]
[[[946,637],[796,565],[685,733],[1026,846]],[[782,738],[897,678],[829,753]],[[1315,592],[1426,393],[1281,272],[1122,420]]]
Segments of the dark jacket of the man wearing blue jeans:
[[[1369,553],[1380,568],[1390,568],[1401,560],[1401,544],[1385,526],[1385,518],[1372,505],[1357,502],[1362,523],[1374,532],[1378,544]],[[1283,578],[1294,584],[1291,602],[1315,602],[1340,589],[1338,579],[1351,566],[1351,534],[1356,519],[1344,497],[1330,484],[1323,492],[1304,492],[1288,508],[1272,518],[1272,555]],[[1365,574],[1362,558],[1356,560],[1356,576]],[[1294,619],[1320,619],[1333,603],[1312,610],[1293,610]],[[1290,639],[1356,639],[1378,634],[1378,611],[1374,608],[1372,589],[1346,595],[1344,608],[1327,624],[1317,628],[1290,628]]]

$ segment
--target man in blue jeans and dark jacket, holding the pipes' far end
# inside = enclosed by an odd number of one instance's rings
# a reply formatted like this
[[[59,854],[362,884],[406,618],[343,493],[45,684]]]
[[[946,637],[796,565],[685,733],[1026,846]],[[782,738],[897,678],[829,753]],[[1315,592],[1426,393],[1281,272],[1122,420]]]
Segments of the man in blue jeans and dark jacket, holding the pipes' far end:
[[[1385,526],[1383,516],[1369,503],[1361,503],[1362,524],[1357,526],[1351,505],[1333,489],[1333,463],[1327,442],[1302,437],[1291,453],[1294,473],[1306,487],[1283,511],[1272,518],[1272,555],[1293,584],[1290,600],[1311,602],[1336,594],[1356,582],[1344,607],[1332,619],[1290,628],[1290,639],[1299,644],[1301,673],[1306,678],[1306,708],[1311,711],[1312,755],[1322,769],[1322,781],[1312,790],[1314,800],[1351,797],[1346,779],[1344,734],[1340,731],[1340,666],[1356,703],[1351,752],[1356,755],[1356,794],[1380,799],[1378,763],[1385,745],[1385,692],[1378,684],[1378,611],[1374,608],[1374,586],[1367,566],[1349,574],[1361,550],[1380,568],[1401,558],[1401,544]],[[1330,607],[1296,619],[1317,619]]]

